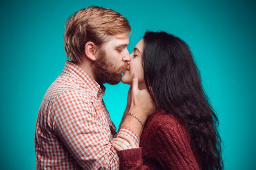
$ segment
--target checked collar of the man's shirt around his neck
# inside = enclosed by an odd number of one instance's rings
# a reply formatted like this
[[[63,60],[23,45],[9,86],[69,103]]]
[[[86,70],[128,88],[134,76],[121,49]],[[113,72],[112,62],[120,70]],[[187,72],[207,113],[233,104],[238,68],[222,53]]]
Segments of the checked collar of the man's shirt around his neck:
[[[92,77],[90,77],[90,75],[76,64],[66,60],[63,72],[80,79],[85,86],[92,90],[95,97],[99,97],[100,94],[104,95],[106,87],[103,86],[103,84],[98,84]]]

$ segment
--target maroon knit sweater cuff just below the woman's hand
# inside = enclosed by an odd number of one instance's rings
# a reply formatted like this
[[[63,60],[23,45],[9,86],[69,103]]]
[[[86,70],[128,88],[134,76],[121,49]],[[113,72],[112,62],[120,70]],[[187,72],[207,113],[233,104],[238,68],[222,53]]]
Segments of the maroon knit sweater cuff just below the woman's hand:
[[[142,148],[126,149],[117,152],[120,160],[120,170],[149,170],[143,165]]]

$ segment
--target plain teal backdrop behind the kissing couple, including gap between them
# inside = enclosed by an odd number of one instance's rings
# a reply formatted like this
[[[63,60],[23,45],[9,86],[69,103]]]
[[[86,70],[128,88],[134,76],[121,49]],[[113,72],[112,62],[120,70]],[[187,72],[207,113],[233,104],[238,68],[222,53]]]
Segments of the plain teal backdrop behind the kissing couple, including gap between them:
[[[1,1],[0,169],[35,169],[37,112],[66,60],[65,21],[90,5],[129,20],[130,52],[147,29],[186,41],[218,113],[225,169],[256,169],[256,4],[247,0]],[[106,87],[104,100],[118,127],[128,86]]]

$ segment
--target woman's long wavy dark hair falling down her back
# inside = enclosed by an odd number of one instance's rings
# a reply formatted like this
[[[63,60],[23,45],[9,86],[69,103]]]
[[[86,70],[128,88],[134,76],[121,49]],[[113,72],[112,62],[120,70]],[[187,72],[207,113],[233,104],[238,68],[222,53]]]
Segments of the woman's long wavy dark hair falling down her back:
[[[191,136],[202,170],[222,170],[218,117],[204,93],[188,45],[166,32],[144,35],[142,54],[146,87],[157,109],[175,115]]]

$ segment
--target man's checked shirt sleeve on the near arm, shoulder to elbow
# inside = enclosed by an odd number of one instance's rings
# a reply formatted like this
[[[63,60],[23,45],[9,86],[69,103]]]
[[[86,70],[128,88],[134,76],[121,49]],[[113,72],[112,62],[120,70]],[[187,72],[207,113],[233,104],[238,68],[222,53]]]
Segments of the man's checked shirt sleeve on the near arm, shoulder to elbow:
[[[83,93],[62,93],[53,102],[53,130],[83,169],[118,170],[109,127],[101,123],[95,109]]]

